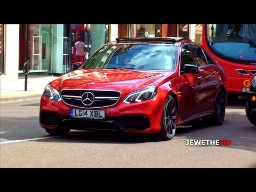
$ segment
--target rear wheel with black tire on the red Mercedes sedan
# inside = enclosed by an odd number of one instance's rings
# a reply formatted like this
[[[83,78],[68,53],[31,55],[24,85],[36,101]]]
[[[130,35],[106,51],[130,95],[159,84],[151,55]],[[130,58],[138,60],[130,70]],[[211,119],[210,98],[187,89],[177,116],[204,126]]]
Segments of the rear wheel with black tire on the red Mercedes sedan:
[[[216,94],[214,102],[214,114],[203,117],[203,121],[211,125],[221,125],[225,119],[226,94],[222,89]]]

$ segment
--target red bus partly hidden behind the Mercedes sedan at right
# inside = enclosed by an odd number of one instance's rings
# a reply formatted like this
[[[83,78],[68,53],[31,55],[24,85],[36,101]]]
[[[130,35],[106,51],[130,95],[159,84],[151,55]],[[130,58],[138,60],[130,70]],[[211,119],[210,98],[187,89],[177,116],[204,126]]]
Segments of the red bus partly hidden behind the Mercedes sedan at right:
[[[230,98],[249,92],[256,74],[256,24],[203,24],[202,45],[226,71]]]

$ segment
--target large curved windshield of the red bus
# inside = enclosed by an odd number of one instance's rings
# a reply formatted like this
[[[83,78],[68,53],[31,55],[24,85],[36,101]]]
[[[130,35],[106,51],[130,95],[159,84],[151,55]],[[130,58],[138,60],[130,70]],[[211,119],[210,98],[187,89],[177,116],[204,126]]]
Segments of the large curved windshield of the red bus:
[[[208,24],[213,50],[239,60],[256,60],[256,24]]]

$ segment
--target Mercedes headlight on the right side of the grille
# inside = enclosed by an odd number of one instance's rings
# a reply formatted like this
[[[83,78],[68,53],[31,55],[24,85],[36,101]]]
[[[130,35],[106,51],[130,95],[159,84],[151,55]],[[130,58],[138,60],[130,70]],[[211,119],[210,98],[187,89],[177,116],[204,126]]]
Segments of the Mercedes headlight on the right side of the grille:
[[[124,103],[134,103],[134,102],[145,101],[145,100],[154,98],[156,96],[156,93],[157,93],[156,86],[148,86],[142,90],[130,93],[123,100],[123,102]]]

